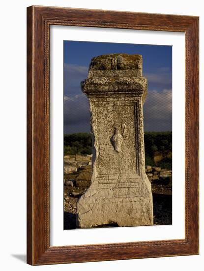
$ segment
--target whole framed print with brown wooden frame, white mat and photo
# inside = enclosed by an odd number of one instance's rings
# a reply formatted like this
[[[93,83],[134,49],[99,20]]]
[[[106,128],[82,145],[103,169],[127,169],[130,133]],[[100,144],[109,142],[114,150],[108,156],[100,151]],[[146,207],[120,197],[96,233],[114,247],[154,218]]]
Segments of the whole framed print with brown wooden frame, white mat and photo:
[[[27,10],[27,262],[199,253],[199,18]]]

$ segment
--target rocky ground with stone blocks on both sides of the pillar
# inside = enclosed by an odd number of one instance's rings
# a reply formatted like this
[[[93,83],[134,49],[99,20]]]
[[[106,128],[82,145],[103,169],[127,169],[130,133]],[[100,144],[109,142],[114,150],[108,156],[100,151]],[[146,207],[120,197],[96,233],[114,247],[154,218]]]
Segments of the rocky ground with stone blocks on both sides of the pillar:
[[[153,195],[154,225],[172,224],[172,171],[146,166]],[[91,155],[64,157],[64,229],[76,229],[76,204],[91,184]]]

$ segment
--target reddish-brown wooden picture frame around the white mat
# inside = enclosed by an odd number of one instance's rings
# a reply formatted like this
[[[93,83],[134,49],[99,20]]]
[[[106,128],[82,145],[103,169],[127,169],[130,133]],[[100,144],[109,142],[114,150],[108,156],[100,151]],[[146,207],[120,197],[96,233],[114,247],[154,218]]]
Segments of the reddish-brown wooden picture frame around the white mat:
[[[185,33],[185,238],[50,247],[50,25]],[[27,9],[27,263],[47,265],[199,253],[199,17],[62,7]]]

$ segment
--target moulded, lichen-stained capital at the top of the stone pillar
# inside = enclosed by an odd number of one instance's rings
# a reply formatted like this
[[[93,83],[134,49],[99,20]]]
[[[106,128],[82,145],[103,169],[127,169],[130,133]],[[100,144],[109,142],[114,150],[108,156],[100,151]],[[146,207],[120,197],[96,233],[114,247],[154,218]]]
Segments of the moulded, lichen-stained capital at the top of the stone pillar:
[[[142,56],[110,54],[92,58],[81,87],[88,97],[125,95],[143,97],[144,101],[147,80],[142,75]]]

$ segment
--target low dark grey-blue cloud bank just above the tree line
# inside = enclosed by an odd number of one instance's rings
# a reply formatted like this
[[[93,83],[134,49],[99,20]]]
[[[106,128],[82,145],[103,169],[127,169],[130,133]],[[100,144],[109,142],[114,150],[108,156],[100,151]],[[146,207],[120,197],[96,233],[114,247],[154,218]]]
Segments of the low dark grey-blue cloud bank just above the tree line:
[[[90,113],[84,94],[64,96],[64,132],[90,132]],[[149,91],[144,103],[145,131],[172,130],[172,90]]]

